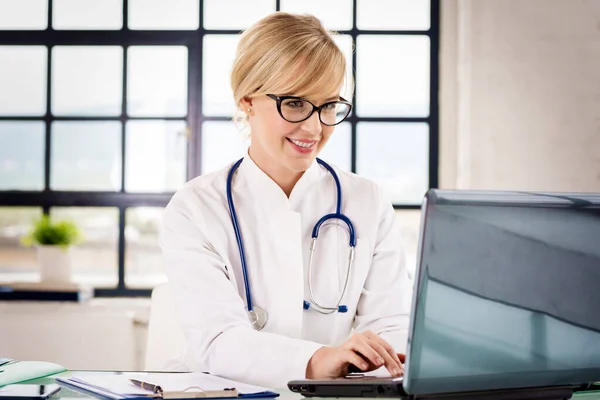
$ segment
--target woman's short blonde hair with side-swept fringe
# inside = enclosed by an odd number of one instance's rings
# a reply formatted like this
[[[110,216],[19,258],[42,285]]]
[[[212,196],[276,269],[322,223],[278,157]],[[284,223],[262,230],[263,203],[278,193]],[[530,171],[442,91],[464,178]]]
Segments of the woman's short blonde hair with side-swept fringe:
[[[244,31],[231,72],[234,119],[245,120],[239,108],[244,97],[273,93],[311,98],[341,90],[346,59],[333,35],[312,15],[285,12],[270,14]]]

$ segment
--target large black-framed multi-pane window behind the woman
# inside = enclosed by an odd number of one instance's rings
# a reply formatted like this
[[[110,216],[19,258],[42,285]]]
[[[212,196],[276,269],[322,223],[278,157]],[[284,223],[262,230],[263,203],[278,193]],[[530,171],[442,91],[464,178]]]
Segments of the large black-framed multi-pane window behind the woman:
[[[0,280],[37,279],[19,238],[46,213],[84,231],[76,282],[149,295],[173,192],[244,154],[223,65],[276,10],[320,18],[351,67],[321,156],[412,216],[438,180],[439,0],[0,0]]]

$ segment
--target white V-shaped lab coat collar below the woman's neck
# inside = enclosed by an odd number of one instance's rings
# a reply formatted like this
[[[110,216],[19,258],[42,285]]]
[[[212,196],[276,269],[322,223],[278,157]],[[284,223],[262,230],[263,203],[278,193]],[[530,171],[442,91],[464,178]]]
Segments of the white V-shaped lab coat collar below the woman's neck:
[[[316,180],[321,177],[320,166],[313,161],[311,166],[302,174],[290,193],[290,198],[285,195],[277,183],[271,179],[248,154],[240,164],[239,171],[248,177],[248,187],[258,196],[268,199],[272,205],[283,206],[286,209],[295,209],[302,201],[303,195]]]

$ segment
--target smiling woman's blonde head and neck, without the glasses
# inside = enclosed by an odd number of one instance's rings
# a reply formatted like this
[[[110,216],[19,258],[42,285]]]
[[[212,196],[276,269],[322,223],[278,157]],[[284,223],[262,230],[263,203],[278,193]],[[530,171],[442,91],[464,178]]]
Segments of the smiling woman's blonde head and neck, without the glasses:
[[[231,87],[250,127],[248,151],[284,191],[291,190],[315,161],[335,127],[321,123],[318,112],[302,122],[289,122],[298,119],[284,119],[278,101],[269,95],[297,96],[319,107],[340,99],[345,73],[343,53],[313,16],[277,12],[242,34]],[[284,115],[307,115],[311,110],[308,103],[281,103]],[[322,118],[326,112],[332,118],[331,109],[323,109]]]

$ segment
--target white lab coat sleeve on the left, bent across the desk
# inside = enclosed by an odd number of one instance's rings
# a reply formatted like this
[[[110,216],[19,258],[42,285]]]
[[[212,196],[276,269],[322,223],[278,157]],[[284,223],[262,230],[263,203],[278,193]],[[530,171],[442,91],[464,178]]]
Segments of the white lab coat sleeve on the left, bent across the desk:
[[[203,234],[199,207],[187,197],[176,194],[165,209],[161,247],[195,369],[271,388],[304,378],[322,345],[252,329],[223,258]]]

